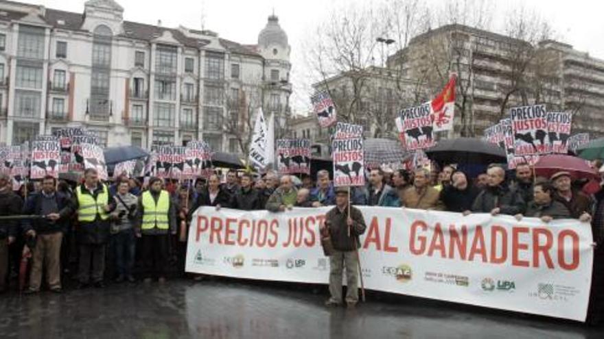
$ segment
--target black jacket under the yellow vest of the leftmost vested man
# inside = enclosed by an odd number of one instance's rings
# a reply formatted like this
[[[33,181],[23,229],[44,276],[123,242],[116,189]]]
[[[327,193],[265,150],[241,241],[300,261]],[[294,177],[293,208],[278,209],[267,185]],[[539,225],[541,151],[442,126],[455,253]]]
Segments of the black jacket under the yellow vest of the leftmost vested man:
[[[90,194],[84,184],[81,184],[80,187],[82,188],[82,194]],[[96,199],[102,191],[103,185],[99,183],[97,188],[95,188],[93,191],[93,198]],[[107,213],[109,214],[115,209],[115,201],[113,200],[113,197],[111,196],[111,193],[109,193],[108,189],[107,193],[109,196],[108,205],[110,207],[110,210]],[[73,194],[73,198],[69,204],[69,214],[78,212],[79,208],[80,203],[78,203],[78,194]],[[106,244],[106,242],[109,240],[109,226],[110,220],[102,220],[99,214],[96,215],[94,221],[78,221],[78,227],[75,228],[78,244]]]

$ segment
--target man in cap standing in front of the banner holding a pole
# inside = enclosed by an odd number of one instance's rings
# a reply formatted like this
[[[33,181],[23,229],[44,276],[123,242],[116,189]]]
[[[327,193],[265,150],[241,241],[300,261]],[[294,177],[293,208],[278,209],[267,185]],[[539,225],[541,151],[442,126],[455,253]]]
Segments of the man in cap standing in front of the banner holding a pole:
[[[358,302],[359,236],[367,226],[360,210],[349,205],[349,189],[336,188],[336,207],[327,212],[325,225],[321,225],[322,238],[331,238],[329,255],[329,294],[327,306],[342,305],[342,270],[346,268],[348,308]]]

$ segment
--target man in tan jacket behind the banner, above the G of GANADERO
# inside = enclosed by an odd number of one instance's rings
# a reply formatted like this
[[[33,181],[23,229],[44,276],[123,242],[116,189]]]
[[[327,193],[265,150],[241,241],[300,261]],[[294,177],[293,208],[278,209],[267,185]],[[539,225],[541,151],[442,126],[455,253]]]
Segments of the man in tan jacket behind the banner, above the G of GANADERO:
[[[417,168],[413,173],[413,187],[403,192],[402,205],[419,210],[443,210],[439,191],[428,182],[430,171],[427,168]]]

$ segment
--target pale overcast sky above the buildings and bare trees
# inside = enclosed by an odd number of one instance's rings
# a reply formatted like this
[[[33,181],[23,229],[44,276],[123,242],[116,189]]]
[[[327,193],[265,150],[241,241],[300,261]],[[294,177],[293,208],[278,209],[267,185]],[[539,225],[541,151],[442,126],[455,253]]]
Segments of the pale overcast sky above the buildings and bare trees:
[[[433,5],[439,1],[428,0]],[[85,0],[24,2],[83,12]],[[257,42],[258,33],[264,28],[268,15],[274,9],[292,47],[292,105],[297,111],[303,111],[310,105],[305,84],[297,81],[301,78],[301,73],[305,72],[302,41],[311,38],[309,33],[313,32],[312,27],[327,20],[331,10],[342,8],[350,2],[371,3],[371,0],[117,0],[124,8],[124,18],[128,21],[156,24],[161,20],[165,27],[184,25],[200,28],[203,16],[206,29],[218,32],[222,38],[244,44]],[[559,40],[573,45],[579,51],[587,51],[592,56],[604,59],[604,1],[512,0],[497,1],[497,5],[497,14],[520,5],[539,12],[553,25]]]

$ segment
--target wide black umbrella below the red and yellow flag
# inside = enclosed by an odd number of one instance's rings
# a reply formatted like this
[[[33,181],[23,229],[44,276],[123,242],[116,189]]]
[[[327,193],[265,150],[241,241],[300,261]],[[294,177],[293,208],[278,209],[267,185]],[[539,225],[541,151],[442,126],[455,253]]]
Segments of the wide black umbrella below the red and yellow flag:
[[[505,151],[497,145],[478,138],[440,140],[426,150],[428,158],[447,164],[491,164],[507,162]]]

